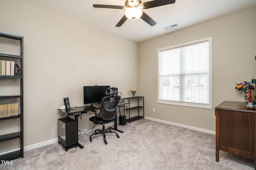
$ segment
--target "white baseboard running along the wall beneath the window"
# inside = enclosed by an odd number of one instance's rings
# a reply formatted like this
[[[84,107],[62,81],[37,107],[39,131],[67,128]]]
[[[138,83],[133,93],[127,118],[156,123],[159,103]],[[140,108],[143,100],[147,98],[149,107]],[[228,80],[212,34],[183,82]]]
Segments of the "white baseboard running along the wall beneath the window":
[[[157,122],[165,123],[165,124],[168,124],[168,125],[174,125],[174,126],[178,126],[178,127],[184,127],[184,128],[187,128],[187,129],[192,129],[192,130],[194,130],[194,131],[200,131],[200,132],[210,133],[210,134],[212,134],[212,135],[216,135],[216,132],[215,132],[215,131],[210,131],[210,130],[202,129],[202,128],[199,128],[199,127],[193,127],[193,126],[183,125],[183,124],[174,123],[174,122],[171,122],[171,121],[160,120],[160,119],[155,119],[155,118],[151,118],[151,117],[144,117],[144,119],[148,119],[148,120],[152,120],[152,121],[157,121]]]

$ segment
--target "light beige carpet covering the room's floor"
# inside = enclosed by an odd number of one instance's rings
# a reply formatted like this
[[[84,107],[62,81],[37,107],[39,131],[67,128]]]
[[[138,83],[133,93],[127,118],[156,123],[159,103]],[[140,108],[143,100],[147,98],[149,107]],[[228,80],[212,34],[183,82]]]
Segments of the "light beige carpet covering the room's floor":
[[[114,125],[114,124],[113,124]],[[66,152],[58,143],[24,152],[1,170],[254,170],[254,160],[220,150],[215,161],[215,135],[140,119],[118,126],[124,133],[79,136],[83,149]]]

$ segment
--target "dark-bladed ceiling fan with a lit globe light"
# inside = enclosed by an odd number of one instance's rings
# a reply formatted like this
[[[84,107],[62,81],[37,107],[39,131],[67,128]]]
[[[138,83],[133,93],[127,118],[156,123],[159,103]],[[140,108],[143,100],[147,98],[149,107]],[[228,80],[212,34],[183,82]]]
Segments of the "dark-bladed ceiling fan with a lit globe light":
[[[116,27],[120,27],[127,19],[136,20],[141,18],[151,26],[156,25],[156,22],[150,18],[142,9],[154,8],[157,6],[163,6],[175,3],[175,0],[152,0],[149,2],[141,2],[141,0],[126,0],[125,6],[118,5],[102,5],[93,4],[94,8],[111,8],[126,10],[123,18],[116,24]]]

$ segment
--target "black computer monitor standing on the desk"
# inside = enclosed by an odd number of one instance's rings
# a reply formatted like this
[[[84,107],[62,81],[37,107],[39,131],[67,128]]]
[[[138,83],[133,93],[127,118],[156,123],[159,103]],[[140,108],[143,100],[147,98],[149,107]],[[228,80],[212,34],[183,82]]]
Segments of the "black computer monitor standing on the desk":
[[[84,104],[100,103],[110,86],[84,86]]]

